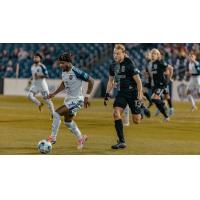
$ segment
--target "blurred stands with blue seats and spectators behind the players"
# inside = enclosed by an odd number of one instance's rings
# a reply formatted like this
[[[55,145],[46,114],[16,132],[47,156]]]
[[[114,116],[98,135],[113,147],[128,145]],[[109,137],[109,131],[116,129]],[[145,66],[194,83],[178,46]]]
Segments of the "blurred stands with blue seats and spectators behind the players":
[[[174,67],[174,80],[185,79],[190,51],[194,51],[197,60],[200,60],[200,44],[129,43],[125,46],[140,70],[147,65],[145,53],[158,48],[165,61]],[[0,78],[30,78],[32,58],[36,52],[42,54],[49,77],[60,78],[61,70],[56,60],[60,54],[70,50],[74,55],[75,66],[89,72],[94,78],[107,80],[113,47],[112,43],[3,43],[0,44]]]

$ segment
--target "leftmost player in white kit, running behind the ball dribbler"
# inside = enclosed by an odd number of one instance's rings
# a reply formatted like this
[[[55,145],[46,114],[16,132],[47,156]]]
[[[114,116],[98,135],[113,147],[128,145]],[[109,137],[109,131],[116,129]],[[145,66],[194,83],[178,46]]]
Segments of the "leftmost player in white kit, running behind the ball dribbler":
[[[32,85],[28,92],[28,98],[39,108],[39,111],[41,112],[44,104],[35,97],[36,94],[41,93],[43,99],[48,105],[51,115],[53,115],[53,102],[50,99],[47,99],[47,96],[49,95],[49,89],[46,82],[46,78],[48,78],[48,72],[46,67],[41,63],[42,55],[40,53],[36,53],[33,57],[33,61],[34,64],[31,66]]]

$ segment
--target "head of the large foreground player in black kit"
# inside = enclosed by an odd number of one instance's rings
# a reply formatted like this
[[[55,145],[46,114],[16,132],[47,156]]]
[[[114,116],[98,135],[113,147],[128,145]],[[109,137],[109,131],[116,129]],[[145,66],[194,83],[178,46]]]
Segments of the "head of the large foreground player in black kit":
[[[127,56],[126,48],[123,44],[116,44],[113,51],[113,58],[117,63],[121,63]]]

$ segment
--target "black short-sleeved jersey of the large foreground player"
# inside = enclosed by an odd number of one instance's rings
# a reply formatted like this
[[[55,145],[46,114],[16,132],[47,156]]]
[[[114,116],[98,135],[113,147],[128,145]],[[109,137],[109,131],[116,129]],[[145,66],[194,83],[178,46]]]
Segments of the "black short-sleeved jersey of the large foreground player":
[[[133,76],[138,75],[140,72],[130,58],[125,58],[120,64],[113,62],[110,65],[109,72],[118,84],[119,93],[130,95],[137,91],[137,83]]]

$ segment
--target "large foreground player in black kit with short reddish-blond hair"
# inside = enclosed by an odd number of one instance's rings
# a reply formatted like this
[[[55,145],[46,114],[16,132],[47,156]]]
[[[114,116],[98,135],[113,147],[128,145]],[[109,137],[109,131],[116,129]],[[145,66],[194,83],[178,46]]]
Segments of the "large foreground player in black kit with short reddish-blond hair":
[[[115,76],[118,77],[119,91],[115,98],[113,108],[113,117],[115,121],[115,130],[118,136],[117,144],[111,146],[112,149],[123,149],[126,147],[122,113],[127,105],[129,105],[132,113],[132,119],[135,124],[139,124],[143,109],[146,109],[143,104],[142,82],[140,72],[130,58],[126,56],[126,49],[122,44],[116,44],[113,51],[115,64],[110,66],[110,76],[108,80],[104,105],[107,105],[109,93],[114,87]],[[117,64],[117,69],[116,69]],[[145,110],[148,112],[148,110]]]

